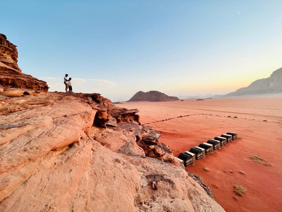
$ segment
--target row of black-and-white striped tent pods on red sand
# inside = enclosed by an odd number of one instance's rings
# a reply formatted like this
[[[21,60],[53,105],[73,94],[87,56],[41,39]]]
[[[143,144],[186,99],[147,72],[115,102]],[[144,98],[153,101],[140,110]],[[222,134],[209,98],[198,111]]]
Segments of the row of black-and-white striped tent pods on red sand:
[[[189,166],[191,164],[193,165],[196,160],[204,158],[204,156],[208,153],[212,152],[213,150],[220,149],[221,146],[232,142],[234,139],[237,139],[237,133],[228,132],[226,134],[222,134],[221,136],[199,144],[199,146],[191,148],[189,151],[180,153],[176,159],[184,166]]]

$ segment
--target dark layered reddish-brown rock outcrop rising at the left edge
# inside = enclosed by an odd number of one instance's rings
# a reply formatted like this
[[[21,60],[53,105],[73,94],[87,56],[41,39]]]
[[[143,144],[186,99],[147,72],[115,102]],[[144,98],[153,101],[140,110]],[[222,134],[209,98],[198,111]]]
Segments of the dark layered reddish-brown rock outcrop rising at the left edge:
[[[17,46],[8,41],[4,34],[0,34],[0,86],[7,87],[7,89],[48,91],[49,87],[45,81],[21,72],[17,58]]]

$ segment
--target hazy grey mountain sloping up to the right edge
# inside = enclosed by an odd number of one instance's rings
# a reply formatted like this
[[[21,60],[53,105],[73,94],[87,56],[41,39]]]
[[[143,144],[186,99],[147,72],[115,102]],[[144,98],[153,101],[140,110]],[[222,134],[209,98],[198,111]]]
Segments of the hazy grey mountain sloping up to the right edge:
[[[241,96],[253,94],[273,94],[282,92],[282,68],[272,72],[270,77],[258,79],[252,82],[248,87],[239,88],[235,92],[225,95],[214,95],[213,98],[226,96]]]

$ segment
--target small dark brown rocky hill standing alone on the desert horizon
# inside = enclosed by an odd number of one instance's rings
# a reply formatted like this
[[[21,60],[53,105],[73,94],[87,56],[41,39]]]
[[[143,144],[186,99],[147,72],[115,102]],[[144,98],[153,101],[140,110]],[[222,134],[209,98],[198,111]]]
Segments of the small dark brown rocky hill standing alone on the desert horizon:
[[[149,92],[138,91],[129,101],[177,101],[179,100],[176,96],[168,96],[164,93],[156,90]]]

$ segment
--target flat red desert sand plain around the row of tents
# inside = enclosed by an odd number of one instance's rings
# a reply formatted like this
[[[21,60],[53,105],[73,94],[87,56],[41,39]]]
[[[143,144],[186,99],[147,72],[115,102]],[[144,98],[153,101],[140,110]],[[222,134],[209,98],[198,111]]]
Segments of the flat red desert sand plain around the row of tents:
[[[237,132],[238,140],[206,155],[186,171],[202,177],[226,211],[281,211],[282,98],[131,102],[122,107],[139,109],[141,123],[160,131],[160,141],[168,144],[175,156],[215,136]],[[190,116],[173,118],[184,115]],[[173,119],[166,121],[168,118]],[[250,158],[254,155],[265,161],[254,162]],[[210,171],[204,171],[205,167]],[[247,192],[238,196],[234,185],[245,187]]]

